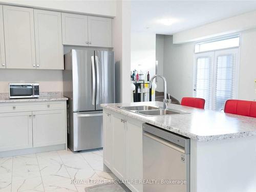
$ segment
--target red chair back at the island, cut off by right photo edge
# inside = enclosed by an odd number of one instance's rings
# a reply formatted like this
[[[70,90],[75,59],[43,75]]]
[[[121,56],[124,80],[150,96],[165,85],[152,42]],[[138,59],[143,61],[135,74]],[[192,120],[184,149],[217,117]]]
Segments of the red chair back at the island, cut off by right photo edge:
[[[225,113],[256,117],[256,101],[230,99],[225,103]]]

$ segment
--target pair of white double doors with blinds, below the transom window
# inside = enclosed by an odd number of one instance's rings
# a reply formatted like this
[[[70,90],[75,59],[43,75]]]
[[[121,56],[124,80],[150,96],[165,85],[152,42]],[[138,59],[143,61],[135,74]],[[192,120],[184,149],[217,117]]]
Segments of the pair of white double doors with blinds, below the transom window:
[[[237,97],[238,53],[231,48],[196,54],[194,96],[205,99],[205,109],[220,111]]]

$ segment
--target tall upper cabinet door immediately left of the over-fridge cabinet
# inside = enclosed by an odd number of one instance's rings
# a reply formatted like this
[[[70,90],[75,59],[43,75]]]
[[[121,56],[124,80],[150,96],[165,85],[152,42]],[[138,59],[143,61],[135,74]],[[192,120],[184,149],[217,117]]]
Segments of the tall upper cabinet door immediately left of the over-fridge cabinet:
[[[34,9],[36,69],[64,69],[61,13]]]

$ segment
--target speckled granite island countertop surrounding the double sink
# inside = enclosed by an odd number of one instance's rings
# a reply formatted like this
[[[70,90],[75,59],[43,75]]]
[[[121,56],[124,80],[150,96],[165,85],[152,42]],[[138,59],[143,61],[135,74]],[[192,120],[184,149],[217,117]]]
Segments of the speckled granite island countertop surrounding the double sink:
[[[118,108],[118,106],[150,105],[163,106],[160,101],[134,102],[129,104],[111,103],[101,104],[108,109],[162,129],[198,141],[214,141],[231,138],[241,138],[256,135],[256,118],[226,114],[211,110],[201,110],[177,104],[168,104],[168,109],[184,111],[189,114],[143,116]]]

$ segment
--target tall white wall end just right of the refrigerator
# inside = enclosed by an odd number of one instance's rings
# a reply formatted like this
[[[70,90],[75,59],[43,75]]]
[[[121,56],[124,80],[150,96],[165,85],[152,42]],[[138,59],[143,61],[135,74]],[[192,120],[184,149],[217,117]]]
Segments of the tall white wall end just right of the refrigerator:
[[[118,1],[114,18],[116,102],[131,102],[131,3]],[[128,89],[127,89],[128,88]]]

